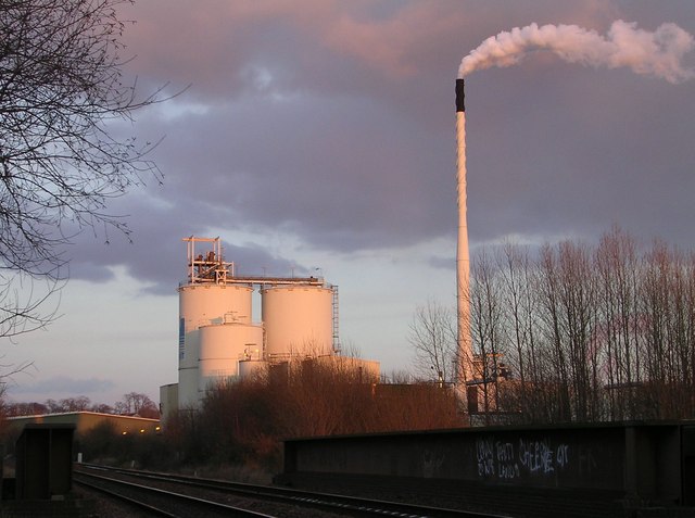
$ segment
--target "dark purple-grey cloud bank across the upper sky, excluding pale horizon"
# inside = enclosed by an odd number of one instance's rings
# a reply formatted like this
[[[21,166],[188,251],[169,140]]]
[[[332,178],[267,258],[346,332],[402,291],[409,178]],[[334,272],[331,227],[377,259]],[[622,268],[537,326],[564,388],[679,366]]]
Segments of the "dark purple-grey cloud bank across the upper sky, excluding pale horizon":
[[[137,132],[166,135],[153,153],[165,184],[114,205],[130,214],[135,243],[85,235],[73,276],[126,265],[170,292],[181,237],[212,228],[257,237],[226,243],[248,270],[295,263],[290,251],[264,252],[264,232],[336,253],[453,241],[453,87],[469,50],[531,22],[603,34],[621,17],[694,33],[692,11],[684,1],[139,2],[128,11],[129,72],[144,86],[191,86],[138,119]],[[471,244],[595,237],[612,224],[695,244],[694,93],[693,81],[544,53],[472,74]]]

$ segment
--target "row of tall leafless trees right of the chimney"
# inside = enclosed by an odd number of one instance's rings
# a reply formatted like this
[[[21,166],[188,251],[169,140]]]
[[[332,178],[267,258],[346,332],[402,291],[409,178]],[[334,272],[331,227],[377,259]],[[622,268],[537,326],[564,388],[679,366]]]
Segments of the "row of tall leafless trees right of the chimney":
[[[481,254],[470,293],[488,409],[528,422],[695,416],[695,254],[641,251],[618,228],[594,247],[507,244]]]

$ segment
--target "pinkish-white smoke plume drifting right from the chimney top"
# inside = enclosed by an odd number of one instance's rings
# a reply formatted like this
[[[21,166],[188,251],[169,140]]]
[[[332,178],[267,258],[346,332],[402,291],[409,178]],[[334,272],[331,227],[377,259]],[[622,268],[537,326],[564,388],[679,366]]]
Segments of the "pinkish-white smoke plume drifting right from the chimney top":
[[[514,65],[531,51],[547,50],[570,63],[608,68],[628,66],[637,74],[681,83],[695,76],[695,71],[681,63],[694,47],[693,36],[672,23],[661,24],[649,33],[637,28],[635,23],[618,20],[605,38],[577,25],[531,24],[484,40],[464,58],[458,77],[492,66]]]

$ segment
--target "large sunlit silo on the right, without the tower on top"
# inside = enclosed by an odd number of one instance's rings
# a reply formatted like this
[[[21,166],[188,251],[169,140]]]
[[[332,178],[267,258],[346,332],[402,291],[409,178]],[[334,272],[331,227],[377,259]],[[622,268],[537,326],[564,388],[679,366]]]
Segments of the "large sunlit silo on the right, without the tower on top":
[[[332,353],[333,292],[321,286],[275,286],[262,293],[268,359]]]

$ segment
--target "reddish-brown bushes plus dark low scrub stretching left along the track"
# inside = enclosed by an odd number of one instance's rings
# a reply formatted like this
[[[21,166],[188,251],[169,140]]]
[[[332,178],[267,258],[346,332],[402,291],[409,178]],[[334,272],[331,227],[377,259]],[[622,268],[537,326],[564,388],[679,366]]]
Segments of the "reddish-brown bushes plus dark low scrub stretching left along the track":
[[[460,427],[453,391],[439,383],[379,384],[343,362],[282,364],[208,390],[159,435],[108,425],[78,438],[87,462],[262,481],[281,469],[283,439]],[[261,473],[261,475],[260,475]]]

